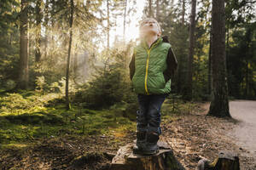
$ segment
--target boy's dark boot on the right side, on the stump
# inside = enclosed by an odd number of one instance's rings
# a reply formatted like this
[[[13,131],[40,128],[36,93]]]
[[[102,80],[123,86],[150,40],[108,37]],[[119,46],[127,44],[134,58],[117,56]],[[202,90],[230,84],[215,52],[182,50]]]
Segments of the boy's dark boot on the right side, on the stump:
[[[159,147],[157,145],[157,141],[159,140],[159,134],[150,132],[147,133],[147,144],[146,147],[143,149],[144,155],[154,155],[158,152]]]

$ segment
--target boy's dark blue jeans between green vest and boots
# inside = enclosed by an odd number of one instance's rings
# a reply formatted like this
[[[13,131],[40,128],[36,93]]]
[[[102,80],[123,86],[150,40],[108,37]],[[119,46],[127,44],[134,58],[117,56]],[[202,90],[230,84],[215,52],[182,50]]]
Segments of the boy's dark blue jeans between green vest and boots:
[[[168,94],[138,94],[137,131],[161,134],[160,108]]]

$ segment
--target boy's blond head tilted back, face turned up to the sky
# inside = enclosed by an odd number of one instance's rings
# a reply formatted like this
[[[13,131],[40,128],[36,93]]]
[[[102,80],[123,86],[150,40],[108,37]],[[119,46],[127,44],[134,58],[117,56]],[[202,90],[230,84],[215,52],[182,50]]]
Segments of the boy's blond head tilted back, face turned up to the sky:
[[[157,35],[157,37],[160,37],[162,33],[159,23],[157,22],[157,20],[154,20],[153,18],[147,18],[141,21],[139,31],[140,37],[152,35]]]

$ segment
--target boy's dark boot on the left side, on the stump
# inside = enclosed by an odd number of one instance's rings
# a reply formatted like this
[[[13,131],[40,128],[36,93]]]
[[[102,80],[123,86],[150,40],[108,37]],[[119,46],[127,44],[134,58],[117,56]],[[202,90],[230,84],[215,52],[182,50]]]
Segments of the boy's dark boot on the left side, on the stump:
[[[146,140],[146,131],[137,132],[137,141],[133,147],[134,154],[143,154],[143,150],[145,149],[147,140]]]

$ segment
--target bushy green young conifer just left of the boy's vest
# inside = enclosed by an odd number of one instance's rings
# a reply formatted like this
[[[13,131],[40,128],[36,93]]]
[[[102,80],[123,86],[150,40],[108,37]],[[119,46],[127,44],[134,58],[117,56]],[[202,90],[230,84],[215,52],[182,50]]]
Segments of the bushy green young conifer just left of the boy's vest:
[[[136,102],[128,71],[129,50],[130,47],[112,49],[111,63],[106,62],[102,68],[96,69],[93,79],[76,94],[75,101],[86,102],[90,108],[108,108],[120,102]]]

